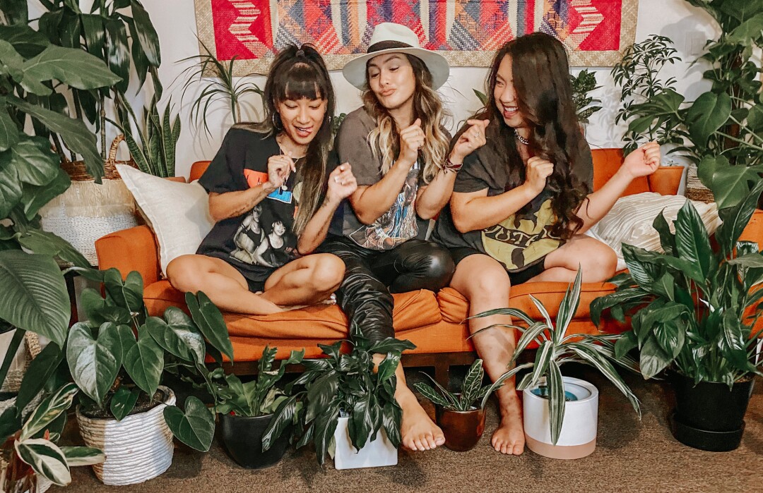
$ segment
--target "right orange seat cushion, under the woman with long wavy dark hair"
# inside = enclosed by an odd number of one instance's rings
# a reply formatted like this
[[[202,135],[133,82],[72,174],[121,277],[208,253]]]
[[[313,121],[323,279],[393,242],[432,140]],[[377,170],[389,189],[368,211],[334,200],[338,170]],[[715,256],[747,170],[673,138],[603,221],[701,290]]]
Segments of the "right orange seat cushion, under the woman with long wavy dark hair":
[[[542,320],[542,315],[536,308],[532,294],[546,306],[552,319],[555,319],[559,312],[559,303],[567,291],[567,283],[523,283],[511,288],[509,306],[520,309],[530,318]],[[573,319],[588,322],[590,324],[591,309],[589,305],[599,296],[604,296],[614,292],[614,284],[611,283],[583,283],[580,287],[580,306],[575,312]],[[458,291],[446,287],[437,293],[437,303],[440,311],[443,313],[443,320],[446,322],[461,323],[468,315],[468,303],[466,298]],[[585,331],[591,332],[591,330]]]

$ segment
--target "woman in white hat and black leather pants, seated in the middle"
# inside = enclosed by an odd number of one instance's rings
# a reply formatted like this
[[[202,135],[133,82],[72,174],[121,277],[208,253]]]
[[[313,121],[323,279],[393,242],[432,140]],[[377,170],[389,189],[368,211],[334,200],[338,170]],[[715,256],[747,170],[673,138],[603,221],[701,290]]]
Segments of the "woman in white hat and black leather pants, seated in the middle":
[[[449,282],[449,252],[423,238],[463,158],[484,142],[487,122],[472,122],[448,154],[446,112],[435,92],[448,78],[448,62],[399,24],[378,24],[368,53],[343,73],[363,91],[363,107],[347,115],[335,149],[352,165],[358,189],[336,211],[321,251],[344,261],[337,303],[375,342],[394,337],[390,293],[436,291]],[[407,388],[401,367],[397,376],[402,443],[410,450],[442,445],[443,432]]]

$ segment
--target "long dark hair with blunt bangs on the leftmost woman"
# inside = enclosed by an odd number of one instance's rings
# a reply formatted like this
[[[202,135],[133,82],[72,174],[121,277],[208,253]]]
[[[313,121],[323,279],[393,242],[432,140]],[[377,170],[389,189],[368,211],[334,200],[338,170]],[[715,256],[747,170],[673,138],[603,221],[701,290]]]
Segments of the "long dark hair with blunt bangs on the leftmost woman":
[[[333,85],[331,85],[326,63],[314,46],[303,44],[298,48],[295,45],[288,45],[273,59],[265,89],[262,92],[264,120],[258,123],[240,123],[237,126],[272,135],[282,130],[281,118],[276,109],[278,104],[288,99],[301,98],[326,101],[324,121],[307,146],[306,162],[297,170],[302,190],[294,222],[294,232],[300,235],[320,205],[318,202],[326,181],[327,159],[333,144],[331,115],[336,108]]]

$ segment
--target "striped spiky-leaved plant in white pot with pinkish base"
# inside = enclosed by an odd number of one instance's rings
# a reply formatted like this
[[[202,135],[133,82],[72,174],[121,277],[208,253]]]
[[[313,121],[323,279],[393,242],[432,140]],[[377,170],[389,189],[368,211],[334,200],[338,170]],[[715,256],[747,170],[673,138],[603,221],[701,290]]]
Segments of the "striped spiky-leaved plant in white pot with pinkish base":
[[[581,379],[562,376],[564,363],[583,363],[599,370],[633,405],[641,417],[636,395],[626,386],[615,370],[614,364],[627,370],[636,370],[636,362],[628,357],[615,355],[615,343],[619,335],[567,334],[572,316],[580,304],[581,271],[575,283],[567,288],[556,323],[552,322],[543,304],[530,295],[544,319],[536,322],[519,309],[505,308],[482,312],[475,317],[510,315],[520,319],[526,326],[503,325],[522,332],[517,341],[513,361],[535,341],[538,344],[536,358],[504,373],[488,389],[488,393],[503,385],[506,379],[522,370],[530,370],[520,380],[517,390],[523,392],[523,419],[527,447],[535,453],[552,459],[580,459],[594,452],[597,436],[598,391]],[[491,325],[481,330],[489,330]],[[477,334],[478,332],[475,332]]]

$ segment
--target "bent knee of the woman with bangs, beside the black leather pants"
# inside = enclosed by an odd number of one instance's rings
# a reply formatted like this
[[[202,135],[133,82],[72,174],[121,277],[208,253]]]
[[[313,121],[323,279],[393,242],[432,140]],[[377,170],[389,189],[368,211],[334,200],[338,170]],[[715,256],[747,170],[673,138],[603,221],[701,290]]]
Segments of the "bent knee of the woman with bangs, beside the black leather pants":
[[[280,306],[313,305],[336,291],[343,277],[344,263],[336,255],[307,255],[275,271],[262,298]]]

